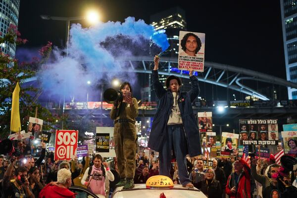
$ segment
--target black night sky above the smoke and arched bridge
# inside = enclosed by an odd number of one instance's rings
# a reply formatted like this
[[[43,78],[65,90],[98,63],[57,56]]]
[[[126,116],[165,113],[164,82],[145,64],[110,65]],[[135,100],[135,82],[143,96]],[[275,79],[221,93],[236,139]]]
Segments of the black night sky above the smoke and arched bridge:
[[[169,0],[21,0],[19,31],[29,40],[20,49],[37,51],[51,41],[61,47],[65,22],[42,20],[51,16],[82,16],[96,7],[101,21],[124,21],[128,16],[149,23],[151,14],[180,6],[186,11],[188,31],[206,34],[205,60],[244,67],[286,79],[280,2]],[[87,27],[84,21],[80,22]]]

